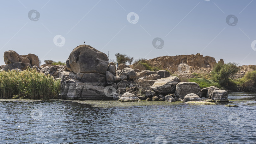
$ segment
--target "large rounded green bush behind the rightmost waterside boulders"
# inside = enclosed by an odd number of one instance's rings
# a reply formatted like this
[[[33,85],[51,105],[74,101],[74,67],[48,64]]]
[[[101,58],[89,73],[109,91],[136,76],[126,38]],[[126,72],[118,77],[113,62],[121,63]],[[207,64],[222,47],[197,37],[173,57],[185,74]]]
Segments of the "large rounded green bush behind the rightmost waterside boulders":
[[[240,69],[237,63],[217,63],[211,72],[212,80],[221,86],[228,86],[229,78],[233,78]]]

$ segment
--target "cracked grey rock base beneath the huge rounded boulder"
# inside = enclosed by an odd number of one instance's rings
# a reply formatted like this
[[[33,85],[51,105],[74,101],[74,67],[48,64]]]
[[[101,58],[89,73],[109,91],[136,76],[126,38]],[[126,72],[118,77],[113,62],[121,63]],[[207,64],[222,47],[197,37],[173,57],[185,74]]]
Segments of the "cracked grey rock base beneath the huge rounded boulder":
[[[84,76],[85,75],[85,76]],[[75,74],[74,72],[70,71],[63,71],[60,74],[61,79],[61,91],[59,93],[59,98],[62,99],[112,99],[112,97],[108,97],[105,95],[104,90],[105,86],[102,86],[103,80],[101,75],[98,73],[91,73],[91,74]],[[84,76],[84,77],[83,77]],[[99,76],[94,79],[87,79],[92,78],[94,76]],[[102,75],[103,76],[103,75]],[[86,81],[82,82],[78,80]],[[105,75],[104,75],[104,81]]]

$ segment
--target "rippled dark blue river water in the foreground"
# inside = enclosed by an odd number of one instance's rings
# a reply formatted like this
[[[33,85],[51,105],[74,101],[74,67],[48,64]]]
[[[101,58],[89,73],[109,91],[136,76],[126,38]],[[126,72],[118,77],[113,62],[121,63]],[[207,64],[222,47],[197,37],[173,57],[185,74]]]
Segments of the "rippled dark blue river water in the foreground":
[[[229,93],[236,98],[247,101],[113,108],[3,101],[0,143],[256,143],[256,93]]]

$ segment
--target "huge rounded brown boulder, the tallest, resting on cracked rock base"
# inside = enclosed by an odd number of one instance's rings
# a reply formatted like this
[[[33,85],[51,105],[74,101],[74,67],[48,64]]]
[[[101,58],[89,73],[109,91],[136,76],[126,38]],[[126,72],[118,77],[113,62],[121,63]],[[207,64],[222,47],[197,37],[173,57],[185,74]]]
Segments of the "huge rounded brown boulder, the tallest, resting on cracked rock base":
[[[107,55],[90,45],[79,45],[70,54],[66,61],[68,70],[74,73],[106,74],[108,67]]]

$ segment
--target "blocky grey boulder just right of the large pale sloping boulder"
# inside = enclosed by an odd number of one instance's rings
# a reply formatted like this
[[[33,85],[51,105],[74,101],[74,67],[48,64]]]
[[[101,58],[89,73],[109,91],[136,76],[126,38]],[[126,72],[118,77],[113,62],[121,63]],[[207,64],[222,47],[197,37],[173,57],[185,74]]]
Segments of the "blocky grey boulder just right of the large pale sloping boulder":
[[[187,94],[195,93],[201,97],[201,89],[195,82],[180,82],[176,85],[175,95],[183,99]]]

